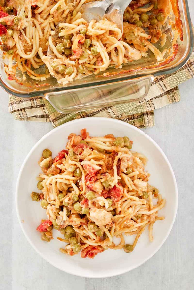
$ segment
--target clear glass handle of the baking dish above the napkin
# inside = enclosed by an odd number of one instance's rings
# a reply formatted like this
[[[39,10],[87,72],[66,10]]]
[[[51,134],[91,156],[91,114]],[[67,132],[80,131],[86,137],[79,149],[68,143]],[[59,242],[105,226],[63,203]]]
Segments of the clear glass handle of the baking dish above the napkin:
[[[58,112],[72,113],[141,100],[147,95],[153,79],[153,75],[148,75],[87,88],[52,91],[44,96]]]

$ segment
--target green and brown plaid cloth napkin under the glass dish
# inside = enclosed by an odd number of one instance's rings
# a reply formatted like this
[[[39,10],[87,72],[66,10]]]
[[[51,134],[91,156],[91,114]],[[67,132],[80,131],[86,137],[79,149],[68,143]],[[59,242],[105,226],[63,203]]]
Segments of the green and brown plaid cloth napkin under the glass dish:
[[[189,61],[173,74],[157,77],[148,95],[141,101],[101,109],[61,114],[47,100],[37,97],[22,99],[9,95],[9,112],[15,120],[51,122],[57,127],[82,117],[108,117],[122,120],[138,128],[155,125],[154,110],[180,101],[178,85],[194,77],[194,52]]]

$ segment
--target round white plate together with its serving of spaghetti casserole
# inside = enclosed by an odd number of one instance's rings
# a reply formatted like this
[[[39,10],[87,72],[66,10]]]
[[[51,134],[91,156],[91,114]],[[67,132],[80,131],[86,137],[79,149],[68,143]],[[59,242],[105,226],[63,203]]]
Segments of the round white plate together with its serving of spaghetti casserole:
[[[170,233],[177,198],[159,146],[132,125],[99,117],[42,137],[16,186],[18,219],[34,249],[55,267],[90,278],[119,275],[151,258]]]

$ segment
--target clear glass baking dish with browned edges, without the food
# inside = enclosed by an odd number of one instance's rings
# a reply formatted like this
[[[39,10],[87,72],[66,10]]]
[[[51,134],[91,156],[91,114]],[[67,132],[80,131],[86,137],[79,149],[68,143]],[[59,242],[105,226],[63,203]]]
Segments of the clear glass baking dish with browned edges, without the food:
[[[193,31],[187,0],[179,0],[180,18],[183,28],[183,40],[177,39],[171,57],[167,57],[162,63],[157,63],[152,53],[148,57],[142,57],[139,61],[123,65],[122,69],[109,68],[108,77],[91,75],[74,80],[65,86],[59,85],[54,78],[45,81],[22,78],[19,82],[6,78],[3,61],[1,58],[0,84],[8,93],[22,97],[43,97],[60,113],[102,108],[143,99],[155,77],[174,73],[184,66],[193,51]],[[170,27],[166,26],[167,41],[163,49],[172,48]],[[41,73],[44,67],[37,71]],[[102,72],[104,73],[104,72]],[[19,73],[18,73],[18,77]]]

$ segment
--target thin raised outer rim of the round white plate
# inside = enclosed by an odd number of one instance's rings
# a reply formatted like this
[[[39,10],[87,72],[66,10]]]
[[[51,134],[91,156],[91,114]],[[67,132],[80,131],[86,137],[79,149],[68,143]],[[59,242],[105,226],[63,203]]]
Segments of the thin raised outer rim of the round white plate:
[[[90,275],[83,275],[83,274],[75,274],[73,273],[73,271],[69,270],[67,268],[67,270],[64,270],[62,269],[61,267],[59,267],[58,265],[56,265],[55,263],[52,263],[47,257],[45,257],[37,247],[35,247],[35,245],[33,244],[33,242],[31,241],[31,239],[28,237],[28,235],[26,234],[25,232],[25,229],[23,227],[23,224],[22,224],[22,220],[21,220],[21,216],[19,214],[19,206],[18,206],[18,203],[19,203],[19,198],[18,198],[18,193],[19,193],[19,182],[20,182],[20,178],[21,178],[21,175],[22,175],[22,172],[23,172],[23,169],[24,169],[24,166],[26,165],[26,162],[29,158],[29,156],[31,155],[31,153],[34,151],[35,148],[37,148],[39,146],[39,144],[49,135],[52,134],[53,131],[58,131],[60,130],[62,127],[65,127],[67,126],[67,124],[71,123],[79,123],[80,121],[82,121],[83,119],[95,119],[95,120],[104,120],[104,121],[108,121],[108,122],[113,122],[113,123],[119,123],[119,124],[122,124],[124,123],[125,125],[129,126],[129,128],[133,128],[135,131],[138,131],[140,132],[145,138],[149,139],[150,142],[152,142],[156,148],[159,150],[159,152],[162,154],[162,156],[164,157],[169,169],[170,169],[170,172],[172,174],[172,180],[173,180],[173,184],[174,184],[174,188],[175,188],[175,213],[173,215],[173,218],[172,218],[172,221],[171,221],[171,224],[170,224],[170,227],[166,233],[166,235],[164,236],[164,238],[161,240],[161,242],[159,243],[159,246],[156,247],[156,249],[146,258],[144,259],[142,262],[139,262],[138,264],[134,265],[134,266],[130,266],[129,268],[127,268],[126,270],[121,270],[121,271],[118,271],[118,273],[113,273],[113,274],[105,274],[105,275],[93,275],[93,274],[90,274]],[[114,277],[114,276],[118,276],[118,275],[121,275],[121,274],[124,274],[124,273],[127,273],[131,270],[134,270],[136,268],[138,268],[139,266],[141,266],[142,264],[144,264],[145,262],[147,262],[150,258],[152,258],[155,253],[162,247],[162,245],[164,244],[164,242],[166,241],[166,239],[168,238],[171,230],[172,230],[172,227],[174,225],[174,222],[175,222],[175,218],[176,218],[176,215],[177,215],[177,209],[178,209],[178,187],[177,187],[177,182],[176,182],[176,178],[175,178],[175,173],[172,169],[172,166],[167,158],[167,156],[165,155],[165,153],[163,152],[163,150],[160,148],[160,146],[154,141],[154,139],[152,139],[149,135],[147,135],[144,131],[140,130],[139,128],[129,124],[129,123],[126,123],[124,121],[121,121],[121,120],[117,120],[117,119],[111,119],[111,118],[106,118],[106,117],[84,117],[84,118],[80,118],[80,119],[75,119],[75,120],[72,120],[72,121],[69,121],[69,122],[66,122],[64,124],[61,124],[60,126],[52,129],[51,131],[49,131],[48,133],[46,133],[44,136],[42,136],[38,142],[36,142],[33,147],[31,148],[31,150],[29,151],[29,153],[26,155],[24,161],[22,162],[22,166],[19,170],[19,174],[18,174],[18,177],[17,177],[17,182],[16,182],[16,188],[15,188],[15,207],[16,207],[16,212],[17,212],[17,218],[19,220],[19,224],[22,228],[22,232],[24,233],[24,236],[26,237],[26,239],[28,240],[28,242],[31,244],[31,246],[33,247],[33,249],[45,260],[47,261],[49,264],[51,264],[53,267],[56,267],[57,269],[63,271],[63,272],[66,272],[66,273],[69,273],[71,275],[74,275],[74,276],[78,276],[78,277],[84,277],[84,278],[108,278],[108,277]],[[98,272],[96,272],[98,274]]]

